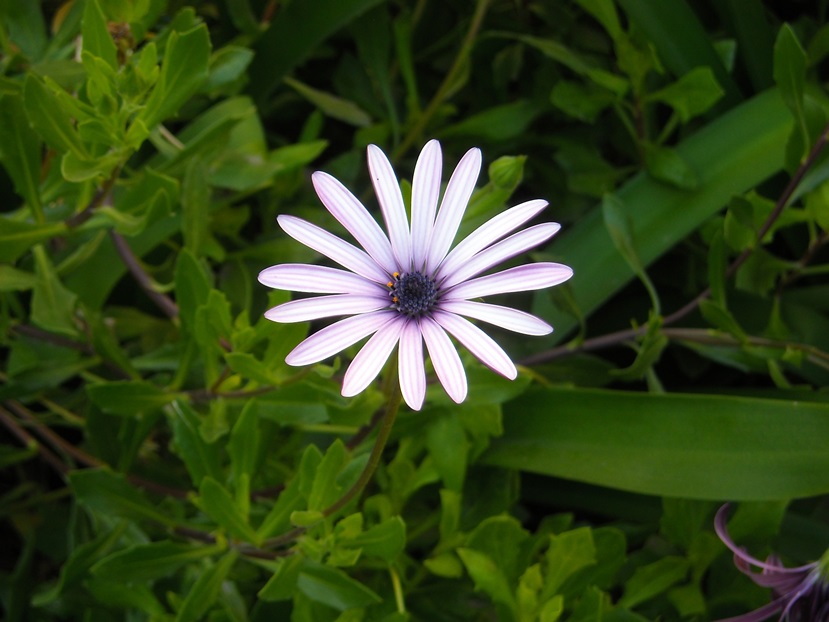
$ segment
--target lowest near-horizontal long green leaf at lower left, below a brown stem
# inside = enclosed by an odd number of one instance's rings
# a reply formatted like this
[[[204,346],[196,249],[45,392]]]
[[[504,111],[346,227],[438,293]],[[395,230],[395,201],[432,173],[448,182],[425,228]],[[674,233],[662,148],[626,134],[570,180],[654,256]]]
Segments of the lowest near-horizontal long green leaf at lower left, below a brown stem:
[[[103,558],[92,567],[92,574],[108,581],[153,581],[168,577],[184,564],[218,555],[225,550],[222,544],[194,546],[160,540],[136,544]]]

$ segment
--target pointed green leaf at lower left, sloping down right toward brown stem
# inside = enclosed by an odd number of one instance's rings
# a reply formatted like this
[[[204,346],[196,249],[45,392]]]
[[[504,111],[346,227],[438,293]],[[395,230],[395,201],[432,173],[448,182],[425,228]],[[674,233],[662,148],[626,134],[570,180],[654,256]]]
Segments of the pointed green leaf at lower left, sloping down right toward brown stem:
[[[122,475],[106,468],[72,471],[69,484],[78,501],[96,512],[132,520],[151,520],[174,526],[176,521],[159,511]]]

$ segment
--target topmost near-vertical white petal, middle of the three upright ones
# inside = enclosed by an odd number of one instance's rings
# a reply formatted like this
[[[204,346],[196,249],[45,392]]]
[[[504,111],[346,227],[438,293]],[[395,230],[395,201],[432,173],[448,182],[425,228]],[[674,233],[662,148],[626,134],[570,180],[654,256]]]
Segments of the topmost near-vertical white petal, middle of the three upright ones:
[[[435,212],[440,197],[440,178],[443,174],[443,156],[440,143],[430,140],[423,147],[415,164],[412,179],[412,260],[414,270],[422,270],[426,263]]]

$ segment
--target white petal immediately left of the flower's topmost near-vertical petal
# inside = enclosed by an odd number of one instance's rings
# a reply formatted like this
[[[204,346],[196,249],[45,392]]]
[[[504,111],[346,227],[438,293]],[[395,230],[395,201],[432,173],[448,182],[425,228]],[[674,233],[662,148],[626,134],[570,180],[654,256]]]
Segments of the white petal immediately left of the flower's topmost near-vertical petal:
[[[380,203],[380,210],[386,221],[386,229],[391,240],[391,249],[397,260],[400,270],[408,271],[411,267],[412,254],[409,239],[409,221],[406,217],[406,207],[403,205],[403,195],[400,193],[400,183],[394,174],[386,154],[376,145],[368,146],[368,169],[371,173],[371,183]]]

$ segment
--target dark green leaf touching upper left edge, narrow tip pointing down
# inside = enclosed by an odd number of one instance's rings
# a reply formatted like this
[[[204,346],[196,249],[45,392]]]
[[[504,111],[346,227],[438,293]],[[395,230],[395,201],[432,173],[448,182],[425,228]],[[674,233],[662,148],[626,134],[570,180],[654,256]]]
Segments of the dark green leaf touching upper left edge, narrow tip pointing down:
[[[38,222],[43,222],[39,191],[41,149],[40,137],[29,127],[20,94],[0,96],[0,162]]]

